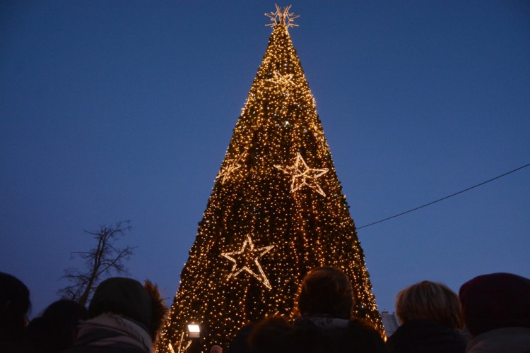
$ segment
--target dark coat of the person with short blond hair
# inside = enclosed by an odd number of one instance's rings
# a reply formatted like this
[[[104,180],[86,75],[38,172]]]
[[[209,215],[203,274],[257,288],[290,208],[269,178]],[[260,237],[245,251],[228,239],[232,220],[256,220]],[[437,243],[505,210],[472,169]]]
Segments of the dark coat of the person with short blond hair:
[[[390,353],[464,353],[461,333],[429,320],[411,320],[399,326],[387,341]]]

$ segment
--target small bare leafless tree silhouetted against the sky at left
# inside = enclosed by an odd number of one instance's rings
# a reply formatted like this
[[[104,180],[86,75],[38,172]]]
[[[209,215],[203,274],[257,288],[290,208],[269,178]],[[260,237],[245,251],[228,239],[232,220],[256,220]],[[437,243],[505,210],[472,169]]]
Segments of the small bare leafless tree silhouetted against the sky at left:
[[[114,226],[100,226],[96,232],[89,232],[97,245],[89,251],[73,251],[73,256],[79,256],[85,261],[85,268],[66,268],[64,276],[71,285],[59,289],[58,293],[62,297],[67,297],[78,301],[83,306],[93,293],[95,287],[105,275],[122,274],[129,275],[129,271],[124,266],[124,260],[128,260],[133,254],[136,246],[126,246],[118,248],[115,242],[131,230],[130,221],[119,221]]]

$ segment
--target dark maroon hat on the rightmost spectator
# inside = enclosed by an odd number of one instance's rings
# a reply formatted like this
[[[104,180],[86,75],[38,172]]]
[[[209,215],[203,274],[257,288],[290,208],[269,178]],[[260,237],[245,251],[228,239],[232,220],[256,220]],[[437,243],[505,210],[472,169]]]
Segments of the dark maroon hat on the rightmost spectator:
[[[530,328],[530,280],[510,273],[473,278],[460,287],[464,323],[473,337],[495,328]]]

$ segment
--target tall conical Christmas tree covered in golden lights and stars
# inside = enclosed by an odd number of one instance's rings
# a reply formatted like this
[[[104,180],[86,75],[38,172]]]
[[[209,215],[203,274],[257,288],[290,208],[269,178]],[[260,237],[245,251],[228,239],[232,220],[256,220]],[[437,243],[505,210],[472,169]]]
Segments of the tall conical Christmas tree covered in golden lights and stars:
[[[159,352],[182,352],[189,323],[201,325],[206,352],[228,347],[251,321],[290,315],[302,278],[320,265],[350,277],[354,315],[383,332],[363,249],[290,40],[298,16],[289,8],[266,14],[269,46],[182,270]]]

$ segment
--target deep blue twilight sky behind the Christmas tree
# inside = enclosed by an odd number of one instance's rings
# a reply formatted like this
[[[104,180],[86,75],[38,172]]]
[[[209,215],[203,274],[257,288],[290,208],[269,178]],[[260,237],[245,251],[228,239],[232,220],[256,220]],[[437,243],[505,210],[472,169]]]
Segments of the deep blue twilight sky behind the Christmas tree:
[[[290,35],[358,227],[530,163],[528,1],[307,1]],[[0,2],[0,271],[58,299],[131,220],[175,295],[264,55],[269,1]],[[530,277],[530,167],[358,230],[379,310],[420,280]]]

